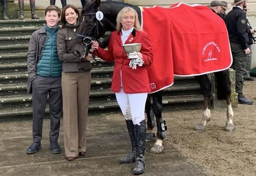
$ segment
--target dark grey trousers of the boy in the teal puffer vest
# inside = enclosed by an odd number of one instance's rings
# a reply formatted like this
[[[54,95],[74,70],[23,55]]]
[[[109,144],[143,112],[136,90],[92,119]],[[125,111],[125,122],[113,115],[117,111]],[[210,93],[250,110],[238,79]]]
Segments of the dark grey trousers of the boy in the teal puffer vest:
[[[50,111],[50,141],[58,141],[60,118],[62,115],[62,87],[61,76],[38,76],[32,81],[33,99],[33,141],[40,142],[43,130],[43,115],[49,95]]]

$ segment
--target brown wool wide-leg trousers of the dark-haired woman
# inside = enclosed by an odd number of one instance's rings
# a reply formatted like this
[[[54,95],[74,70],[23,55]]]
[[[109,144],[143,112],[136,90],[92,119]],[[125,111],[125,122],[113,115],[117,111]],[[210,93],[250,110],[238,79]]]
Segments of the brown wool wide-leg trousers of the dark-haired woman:
[[[66,157],[86,152],[91,73],[62,72],[63,132]]]

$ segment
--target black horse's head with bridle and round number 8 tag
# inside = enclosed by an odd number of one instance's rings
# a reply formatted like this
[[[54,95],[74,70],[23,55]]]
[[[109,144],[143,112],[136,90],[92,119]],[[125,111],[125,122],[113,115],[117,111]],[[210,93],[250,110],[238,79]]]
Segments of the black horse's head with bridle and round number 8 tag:
[[[103,13],[99,10],[100,3],[100,0],[87,0],[83,6],[77,31],[77,44],[73,51],[77,57],[85,58],[91,49],[92,40],[99,39],[106,32]]]

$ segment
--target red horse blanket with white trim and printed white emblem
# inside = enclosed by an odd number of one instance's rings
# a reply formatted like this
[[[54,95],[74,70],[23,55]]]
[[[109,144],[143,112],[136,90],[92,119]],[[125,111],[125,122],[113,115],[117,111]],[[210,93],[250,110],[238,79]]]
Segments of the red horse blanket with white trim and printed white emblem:
[[[206,6],[145,7],[142,30],[151,39],[154,55],[148,67],[151,93],[172,85],[174,75],[202,75],[232,64],[225,22]]]

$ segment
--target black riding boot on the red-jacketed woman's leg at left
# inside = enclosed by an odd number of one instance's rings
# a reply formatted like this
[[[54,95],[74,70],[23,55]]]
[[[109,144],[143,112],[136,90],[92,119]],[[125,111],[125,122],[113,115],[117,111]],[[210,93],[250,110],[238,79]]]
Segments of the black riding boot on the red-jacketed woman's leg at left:
[[[127,129],[128,129],[128,133],[130,135],[131,143],[132,143],[132,150],[124,158],[120,159],[120,163],[122,163],[122,164],[128,164],[128,163],[134,162],[135,155],[136,155],[136,134],[135,134],[135,128],[133,125],[133,121],[126,120],[126,125],[127,125]]]

